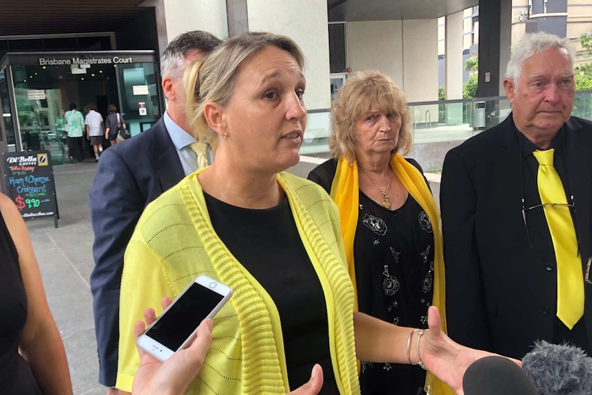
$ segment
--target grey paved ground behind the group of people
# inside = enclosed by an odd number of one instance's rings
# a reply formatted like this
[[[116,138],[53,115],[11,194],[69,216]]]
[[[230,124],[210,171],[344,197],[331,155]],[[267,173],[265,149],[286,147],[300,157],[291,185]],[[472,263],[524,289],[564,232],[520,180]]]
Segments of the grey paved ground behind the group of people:
[[[301,162],[289,171],[306,177],[314,164]],[[64,340],[75,395],[104,395],[98,384],[93,306],[89,279],[94,267],[93,230],[88,206],[95,163],[54,168],[60,211],[54,220],[27,221],[43,277],[45,294]],[[439,192],[437,176],[431,188]]]

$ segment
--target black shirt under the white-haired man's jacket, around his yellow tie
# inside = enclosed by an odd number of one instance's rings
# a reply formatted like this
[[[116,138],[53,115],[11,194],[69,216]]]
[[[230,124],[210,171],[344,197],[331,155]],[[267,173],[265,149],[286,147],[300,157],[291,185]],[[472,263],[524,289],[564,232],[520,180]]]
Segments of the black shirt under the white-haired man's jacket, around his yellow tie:
[[[529,207],[534,207],[541,203],[540,194],[538,193],[538,183],[536,182],[538,175],[538,161],[534,155],[532,155],[534,150],[538,150],[538,148],[527,139],[523,133],[520,133],[516,129],[516,126],[514,126],[514,130],[516,131],[516,136],[518,136],[517,139],[519,139],[519,145],[521,146],[524,207],[528,209]],[[549,145],[548,149],[550,148],[554,148],[555,150],[553,155],[553,167],[557,171],[563,184],[567,203],[575,203],[576,205],[575,208],[571,209],[571,216],[572,218],[575,218],[573,213],[574,210],[577,210],[577,203],[571,199],[572,188],[567,175],[568,159],[567,155],[565,155],[565,131],[563,131],[563,128],[561,128]],[[553,271],[557,264],[555,249],[553,247],[553,240],[551,239],[551,232],[549,231],[549,225],[547,224],[543,207],[526,210],[526,224],[535,255],[538,256],[541,264],[544,264],[545,267],[547,267],[547,270]],[[554,311],[557,311],[557,305],[554,306]],[[553,337],[556,343],[571,341],[584,350],[591,350],[584,319],[580,319],[580,321],[569,330],[560,319],[555,317]]]

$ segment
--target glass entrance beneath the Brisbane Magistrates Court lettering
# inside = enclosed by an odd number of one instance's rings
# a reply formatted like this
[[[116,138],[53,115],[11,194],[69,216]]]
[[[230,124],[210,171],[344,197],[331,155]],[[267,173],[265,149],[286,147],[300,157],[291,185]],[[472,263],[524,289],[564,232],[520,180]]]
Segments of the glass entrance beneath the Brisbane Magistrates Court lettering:
[[[18,122],[22,142],[16,149],[49,150],[54,165],[71,161],[64,114],[72,103],[82,115],[88,112],[87,104],[94,103],[103,119],[107,107],[114,104],[132,135],[157,122],[161,106],[156,64],[133,63],[131,57],[113,59],[118,63],[9,66],[16,102],[12,119]],[[1,87],[2,80],[0,92]],[[90,154],[87,139],[83,141]],[[103,147],[109,147],[108,140],[104,139]]]

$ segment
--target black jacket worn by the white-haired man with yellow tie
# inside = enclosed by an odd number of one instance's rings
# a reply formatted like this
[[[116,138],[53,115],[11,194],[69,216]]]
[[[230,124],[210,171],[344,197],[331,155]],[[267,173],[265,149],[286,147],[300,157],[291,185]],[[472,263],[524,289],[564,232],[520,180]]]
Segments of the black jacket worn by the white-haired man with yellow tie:
[[[567,174],[576,204],[582,278],[590,256],[592,122],[564,125]],[[440,205],[448,335],[459,343],[522,358],[536,339],[553,341],[555,262],[531,247],[522,217],[519,142],[510,115],[444,159]],[[592,339],[592,286],[584,283]]]

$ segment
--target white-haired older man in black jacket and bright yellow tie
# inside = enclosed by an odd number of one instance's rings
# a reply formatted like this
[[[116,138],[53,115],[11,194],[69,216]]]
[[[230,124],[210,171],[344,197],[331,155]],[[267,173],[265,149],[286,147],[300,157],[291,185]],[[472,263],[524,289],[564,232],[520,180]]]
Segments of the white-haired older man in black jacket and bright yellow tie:
[[[448,335],[466,346],[521,358],[544,339],[591,352],[592,122],[571,116],[572,60],[567,38],[527,34],[504,80],[512,113],[444,160]],[[545,151],[555,184],[541,175]]]

